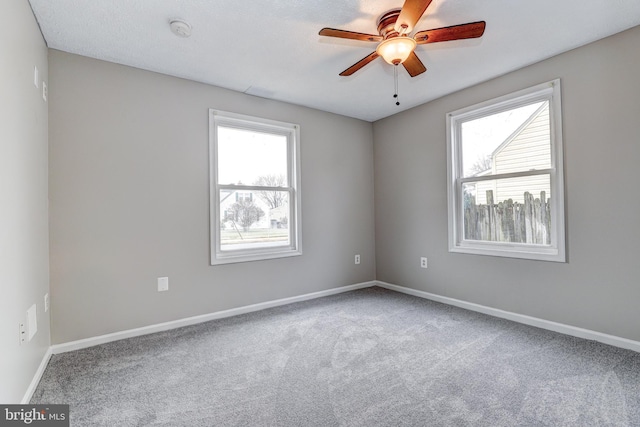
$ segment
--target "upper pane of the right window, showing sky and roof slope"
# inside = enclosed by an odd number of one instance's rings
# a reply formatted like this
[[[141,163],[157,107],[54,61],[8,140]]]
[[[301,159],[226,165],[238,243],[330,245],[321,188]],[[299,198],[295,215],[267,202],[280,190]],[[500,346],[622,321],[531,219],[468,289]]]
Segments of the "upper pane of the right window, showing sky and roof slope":
[[[551,167],[549,102],[461,124],[463,177]]]

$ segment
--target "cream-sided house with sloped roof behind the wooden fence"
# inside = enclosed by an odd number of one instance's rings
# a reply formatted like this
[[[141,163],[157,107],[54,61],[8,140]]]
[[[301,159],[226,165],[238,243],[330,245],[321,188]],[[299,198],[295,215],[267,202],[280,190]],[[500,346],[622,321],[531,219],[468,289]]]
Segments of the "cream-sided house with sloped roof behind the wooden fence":
[[[476,176],[548,169],[551,165],[550,132],[549,103],[545,102],[491,153],[491,169]],[[509,199],[522,203],[526,191],[534,198],[539,198],[541,191],[545,191],[547,199],[551,194],[549,175],[478,182],[475,184],[477,204],[487,203],[487,190],[493,190],[494,203]]]

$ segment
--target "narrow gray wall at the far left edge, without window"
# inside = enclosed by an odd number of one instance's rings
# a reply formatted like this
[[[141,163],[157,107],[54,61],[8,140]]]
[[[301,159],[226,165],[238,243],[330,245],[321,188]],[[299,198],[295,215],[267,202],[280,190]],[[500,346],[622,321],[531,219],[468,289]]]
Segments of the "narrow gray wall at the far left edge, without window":
[[[0,402],[19,403],[49,346],[47,47],[28,2],[2,1],[0,15]],[[38,332],[20,346],[32,304]]]

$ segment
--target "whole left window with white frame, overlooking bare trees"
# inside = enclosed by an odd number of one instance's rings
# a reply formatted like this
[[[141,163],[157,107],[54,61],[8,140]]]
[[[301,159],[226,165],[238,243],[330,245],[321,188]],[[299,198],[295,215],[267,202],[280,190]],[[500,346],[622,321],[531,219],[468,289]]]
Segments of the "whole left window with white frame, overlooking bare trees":
[[[300,255],[299,126],[209,110],[211,264]]]

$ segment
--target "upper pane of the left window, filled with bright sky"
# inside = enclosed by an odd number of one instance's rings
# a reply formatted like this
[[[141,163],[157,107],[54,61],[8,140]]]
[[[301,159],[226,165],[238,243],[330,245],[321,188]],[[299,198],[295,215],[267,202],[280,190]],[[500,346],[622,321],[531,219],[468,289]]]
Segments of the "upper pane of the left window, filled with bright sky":
[[[217,129],[218,184],[288,186],[285,135]]]

